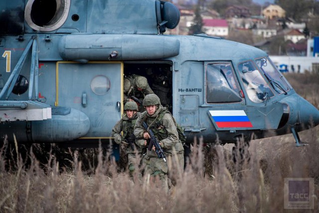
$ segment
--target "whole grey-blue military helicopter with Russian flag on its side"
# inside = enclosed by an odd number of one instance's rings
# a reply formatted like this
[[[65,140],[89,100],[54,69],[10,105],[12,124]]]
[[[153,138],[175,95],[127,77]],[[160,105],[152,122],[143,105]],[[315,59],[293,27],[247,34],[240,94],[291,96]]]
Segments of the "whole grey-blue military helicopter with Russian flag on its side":
[[[109,143],[124,77],[167,88],[187,142],[237,143],[319,124],[269,56],[205,34],[166,35],[178,8],[160,0],[0,1],[0,136],[18,142]]]

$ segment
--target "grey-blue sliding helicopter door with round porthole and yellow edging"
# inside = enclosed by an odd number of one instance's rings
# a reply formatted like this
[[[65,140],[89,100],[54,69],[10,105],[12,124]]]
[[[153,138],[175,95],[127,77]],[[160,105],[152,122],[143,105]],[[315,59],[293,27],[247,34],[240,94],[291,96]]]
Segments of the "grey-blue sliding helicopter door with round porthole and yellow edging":
[[[123,63],[57,62],[56,106],[84,112],[90,130],[83,138],[111,138],[123,109]]]

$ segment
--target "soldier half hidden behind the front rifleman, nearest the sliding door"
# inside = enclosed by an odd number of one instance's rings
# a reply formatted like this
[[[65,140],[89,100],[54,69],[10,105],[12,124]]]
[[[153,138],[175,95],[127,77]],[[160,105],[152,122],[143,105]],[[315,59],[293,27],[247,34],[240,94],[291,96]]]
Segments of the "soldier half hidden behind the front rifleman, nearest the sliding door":
[[[142,151],[141,148],[135,146],[135,135],[133,133],[134,125],[140,112],[138,112],[138,105],[135,102],[126,103],[124,110],[126,113],[122,115],[122,119],[113,127],[112,136],[115,142],[121,145],[120,162],[124,162],[124,167],[128,163],[130,175],[132,176],[135,170],[135,149],[138,148],[139,153]],[[121,131],[123,131],[123,135],[121,135]]]

